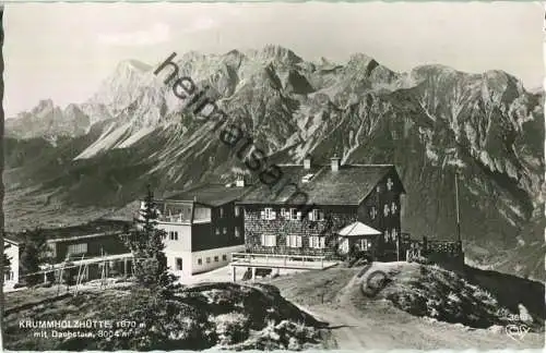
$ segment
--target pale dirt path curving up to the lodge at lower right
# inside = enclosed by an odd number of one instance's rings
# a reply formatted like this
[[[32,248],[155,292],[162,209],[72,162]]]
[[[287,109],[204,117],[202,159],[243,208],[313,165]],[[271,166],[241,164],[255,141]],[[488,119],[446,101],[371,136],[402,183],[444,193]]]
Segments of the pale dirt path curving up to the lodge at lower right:
[[[340,350],[491,350],[542,349],[544,345],[543,333],[527,333],[518,341],[503,329],[494,332],[428,320],[402,312],[388,301],[368,300],[359,288],[375,269],[372,266],[361,278],[355,276],[349,279],[328,303],[298,303],[298,297],[293,296],[292,285],[287,285],[285,291],[281,285],[281,292],[286,292],[288,300],[317,319],[329,322]]]

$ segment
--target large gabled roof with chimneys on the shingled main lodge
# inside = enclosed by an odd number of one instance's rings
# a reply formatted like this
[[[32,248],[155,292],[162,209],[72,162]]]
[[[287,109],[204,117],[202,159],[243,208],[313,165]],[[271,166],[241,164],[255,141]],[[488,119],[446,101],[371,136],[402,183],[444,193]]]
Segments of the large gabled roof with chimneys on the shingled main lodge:
[[[392,165],[344,165],[335,172],[330,165],[312,166],[310,170],[301,165],[278,167],[283,178],[277,185],[270,188],[259,183],[242,197],[240,204],[284,204],[296,192],[296,187],[289,185],[294,183],[307,194],[307,204],[359,205],[388,173],[397,175]],[[302,178],[309,173],[313,174],[312,178],[304,183]],[[297,197],[295,203],[301,204],[301,198]]]

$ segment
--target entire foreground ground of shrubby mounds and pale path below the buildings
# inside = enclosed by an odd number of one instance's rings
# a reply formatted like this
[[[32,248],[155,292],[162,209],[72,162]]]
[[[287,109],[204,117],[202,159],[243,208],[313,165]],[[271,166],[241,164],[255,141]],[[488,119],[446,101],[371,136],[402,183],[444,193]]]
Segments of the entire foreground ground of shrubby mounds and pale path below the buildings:
[[[164,303],[140,295],[130,283],[108,290],[90,287],[75,297],[69,293],[55,299],[56,288],[22,290],[5,297],[4,344],[10,350],[544,346],[544,283],[407,263],[375,263],[363,275],[364,269],[340,266],[229,283],[221,281],[227,277],[223,268]],[[369,295],[363,289],[377,270],[388,280]],[[40,337],[35,333],[44,330],[21,328],[23,320],[87,319],[132,319],[143,326],[92,338]],[[524,326],[529,332],[509,334],[510,326]]]

